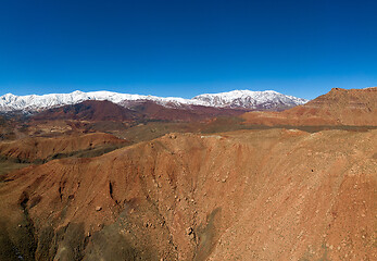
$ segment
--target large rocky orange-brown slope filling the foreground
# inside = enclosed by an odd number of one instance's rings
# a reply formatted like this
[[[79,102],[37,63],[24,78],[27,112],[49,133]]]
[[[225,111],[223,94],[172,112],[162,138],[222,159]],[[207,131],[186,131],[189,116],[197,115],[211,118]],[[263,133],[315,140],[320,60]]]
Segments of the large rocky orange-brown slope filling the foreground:
[[[377,130],[169,134],[0,184],[0,259],[374,260]]]

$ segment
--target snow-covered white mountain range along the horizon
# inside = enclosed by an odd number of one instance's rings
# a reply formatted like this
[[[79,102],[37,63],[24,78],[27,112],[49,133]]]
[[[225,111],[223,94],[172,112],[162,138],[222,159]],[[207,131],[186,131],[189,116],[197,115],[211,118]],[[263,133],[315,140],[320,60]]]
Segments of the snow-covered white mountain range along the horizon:
[[[118,104],[127,104],[126,101],[153,101],[169,108],[181,105],[204,105],[247,110],[284,110],[307,102],[305,99],[285,96],[273,90],[234,90],[222,94],[200,95],[192,99],[127,95],[112,91],[83,92],[76,90],[71,94],[50,94],[42,96],[15,96],[7,94],[0,97],[0,111],[41,111],[65,104],[76,104],[85,100],[109,100]]]

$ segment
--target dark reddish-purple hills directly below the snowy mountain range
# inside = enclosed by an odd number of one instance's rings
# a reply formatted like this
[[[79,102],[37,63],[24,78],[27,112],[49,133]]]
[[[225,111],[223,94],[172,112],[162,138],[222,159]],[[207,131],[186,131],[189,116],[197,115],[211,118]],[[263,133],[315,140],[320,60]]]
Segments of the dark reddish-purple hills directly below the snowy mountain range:
[[[30,116],[34,121],[77,120],[135,122],[144,120],[160,121],[203,121],[216,116],[238,116],[246,110],[202,105],[180,105],[167,108],[153,101],[84,101],[77,104],[48,109]]]

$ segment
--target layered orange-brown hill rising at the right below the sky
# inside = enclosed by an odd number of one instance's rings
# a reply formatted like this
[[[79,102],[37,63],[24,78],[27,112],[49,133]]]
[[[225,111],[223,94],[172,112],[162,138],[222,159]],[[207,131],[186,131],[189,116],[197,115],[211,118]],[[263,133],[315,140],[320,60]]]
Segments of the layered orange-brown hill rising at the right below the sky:
[[[282,112],[248,112],[247,124],[377,126],[377,87],[334,88],[304,105]]]

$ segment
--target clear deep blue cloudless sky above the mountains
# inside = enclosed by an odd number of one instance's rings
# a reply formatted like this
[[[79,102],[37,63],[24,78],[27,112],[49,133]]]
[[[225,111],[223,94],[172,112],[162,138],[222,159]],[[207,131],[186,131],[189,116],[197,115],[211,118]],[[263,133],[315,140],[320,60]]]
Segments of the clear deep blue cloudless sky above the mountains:
[[[377,1],[0,2],[0,95],[377,86]]]

